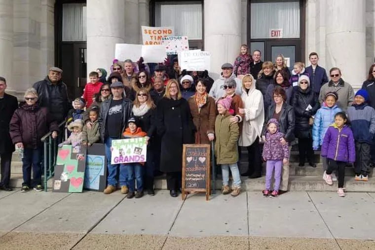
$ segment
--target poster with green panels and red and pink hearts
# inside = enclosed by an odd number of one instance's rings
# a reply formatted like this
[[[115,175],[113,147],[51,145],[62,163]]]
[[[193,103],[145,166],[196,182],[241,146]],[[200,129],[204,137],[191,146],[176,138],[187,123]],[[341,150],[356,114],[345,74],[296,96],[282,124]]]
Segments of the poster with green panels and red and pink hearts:
[[[86,146],[63,145],[57,152],[53,192],[81,193],[86,166]]]

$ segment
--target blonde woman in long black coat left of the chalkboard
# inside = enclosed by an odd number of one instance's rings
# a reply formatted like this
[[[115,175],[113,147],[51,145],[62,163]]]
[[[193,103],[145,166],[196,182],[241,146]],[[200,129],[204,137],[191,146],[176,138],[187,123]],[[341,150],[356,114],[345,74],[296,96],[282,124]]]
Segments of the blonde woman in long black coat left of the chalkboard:
[[[160,171],[167,173],[170,195],[177,197],[181,188],[183,144],[194,143],[195,131],[188,101],[182,98],[177,80],[168,81],[156,113],[157,134],[161,137]]]

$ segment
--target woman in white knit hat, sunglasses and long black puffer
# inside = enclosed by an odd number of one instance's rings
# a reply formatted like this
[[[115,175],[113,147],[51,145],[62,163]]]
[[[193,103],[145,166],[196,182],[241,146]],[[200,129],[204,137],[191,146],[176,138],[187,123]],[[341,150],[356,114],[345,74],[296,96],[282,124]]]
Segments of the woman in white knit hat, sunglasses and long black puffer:
[[[310,88],[310,79],[306,75],[300,75],[298,87],[292,99],[292,106],[296,115],[294,132],[298,138],[300,151],[299,166],[304,166],[307,157],[308,164],[315,168],[314,151],[312,150],[312,123],[310,124],[309,120],[318,111],[320,104],[317,95]]]

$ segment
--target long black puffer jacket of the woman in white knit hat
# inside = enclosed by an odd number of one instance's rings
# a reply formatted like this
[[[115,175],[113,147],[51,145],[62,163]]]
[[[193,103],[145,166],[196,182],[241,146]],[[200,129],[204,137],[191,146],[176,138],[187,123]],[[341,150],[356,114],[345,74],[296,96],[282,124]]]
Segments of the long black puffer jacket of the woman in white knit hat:
[[[312,107],[312,109],[306,111],[306,108],[309,105]],[[316,111],[320,107],[318,96],[310,87],[308,87],[306,90],[302,90],[300,87],[298,87],[293,95],[292,106],[296,115],[296,127],[294,129],[296,137],[311,138],[312,130],[308,122],[309,118],[315,115]]]

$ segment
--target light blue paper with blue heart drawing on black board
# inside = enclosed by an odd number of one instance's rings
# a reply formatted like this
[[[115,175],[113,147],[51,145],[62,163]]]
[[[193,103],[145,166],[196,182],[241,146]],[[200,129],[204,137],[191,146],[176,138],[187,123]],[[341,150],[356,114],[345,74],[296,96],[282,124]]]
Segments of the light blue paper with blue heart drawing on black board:
[[[99,189],[100,176],[104,175],[104,156],[87,155],[85,187]]]

